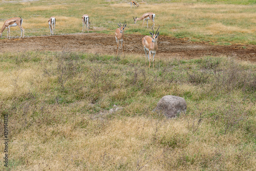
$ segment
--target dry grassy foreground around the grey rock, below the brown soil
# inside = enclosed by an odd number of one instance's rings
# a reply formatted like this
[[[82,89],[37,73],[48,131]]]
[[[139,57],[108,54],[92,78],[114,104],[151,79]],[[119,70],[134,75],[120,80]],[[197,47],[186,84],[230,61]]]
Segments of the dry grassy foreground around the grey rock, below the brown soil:
[[[65,52],[0,61],[10,170],[255,169],[255,65],[204,57],[148,69],[138,56]],[[185,98],[186,115],[152,112],[167,94]],[[123,109],[111,114],[114,104]]]

